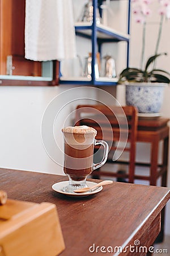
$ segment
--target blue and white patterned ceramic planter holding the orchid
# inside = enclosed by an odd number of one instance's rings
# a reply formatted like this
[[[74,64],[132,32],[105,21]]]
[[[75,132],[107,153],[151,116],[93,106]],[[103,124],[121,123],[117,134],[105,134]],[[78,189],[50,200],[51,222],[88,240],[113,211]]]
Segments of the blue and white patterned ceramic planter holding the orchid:
[[[164,83],[126,84],[126,105],[137,107],[139,113],[159,113],[163,104]]]

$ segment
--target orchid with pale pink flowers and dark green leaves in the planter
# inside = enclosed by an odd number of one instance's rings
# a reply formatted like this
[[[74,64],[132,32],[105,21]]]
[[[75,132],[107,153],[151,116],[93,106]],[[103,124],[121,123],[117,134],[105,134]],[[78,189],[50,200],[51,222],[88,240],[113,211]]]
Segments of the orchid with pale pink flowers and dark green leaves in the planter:
[[[155,54],[151,56],[144,65],[145,43],[146,43],[146,22],[147,16],[152,13],[151,3],[153,0],[131,0],[133,5],[133,14],[135,21],[141,23],[143,26],[142,33],[142,52],[140,68],[126,68],[120,74],[119,83],[122,82],[170,82],[170,73],[163,69],[156,69],[156,60],[160,55],[167,55],[167,53],[158,53],[160,38],[162,35],[162,27],[164,18],[170,18],[170,0],[158,0],[160,15],[158,38],[155,46]],[[154,0],[155,1],[155,0]],[[152,67],[152,68],[151,68]]]

